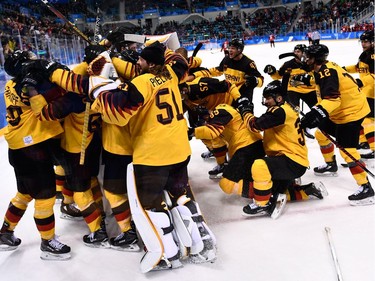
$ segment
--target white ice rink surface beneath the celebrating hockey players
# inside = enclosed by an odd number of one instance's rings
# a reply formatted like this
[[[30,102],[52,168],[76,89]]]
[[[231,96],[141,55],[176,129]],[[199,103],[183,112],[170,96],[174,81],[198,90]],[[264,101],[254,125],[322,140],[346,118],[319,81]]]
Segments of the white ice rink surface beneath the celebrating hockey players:
[[[279,54],[292,52],[296,44],[276,43],[246,46],[244,53],[253,59],[263,74],[266,64],[277,69],[290,58],[279,60]],[[329,47],[329,60],[339,65],[355,64],[362,51],[358,40],[322,41]],[[220,50],[199,51],[203,66],[217,66],[223,58]],[[267,74],[265,84],[270,82]],[[254,92],[255,115],[265,111],[261,105],[262,89]],[[307,111],[305,106],[305,111]],[[139,269],[141,252],[119,252],[111,249],[86,247],[82,236],[88,233],[84,222],[59,218],[55,205],[56,233],[72,248],[69,261],[43,261],[40,237],[33,220],[33,202],[16,228],[22,239],[16,251],[0,252],[0,280],[27,281],[96,281],[96,280],[204,280],[204,281],[333,281],[338,280],[325,227],[331,228],[343,280],[375,280],[375,206],[352,207],[347,196],[357,190],[349,170],[339,165],[339,176],[316,177],[312,168],[322,165],[323,157],[315,140],[307,140],[311,169],[302,183],[322,181],[329,195],[323,200],[287,203],[277,220],[269,217],[244,218],[242,207],[249,200],[224,194],[218,182],[210,180],[207,172],[214,160],[204,161],[200,154],[206,149],[195,139],[191,141],[193,155],[189,164],[190,183],[201,210],[218,241],[215,263],[184,263],[181,269],[142,274]],[[336,150],[338,163],[343,160]],[[0,137],[0,216],[15,195],[16,184],[8,163],[7,143]],[[374,163],[368,162],[374,173]],[[373,178],[370,178],[375,187]],[[108,221],[111,236],[118,234],[114,221]]]

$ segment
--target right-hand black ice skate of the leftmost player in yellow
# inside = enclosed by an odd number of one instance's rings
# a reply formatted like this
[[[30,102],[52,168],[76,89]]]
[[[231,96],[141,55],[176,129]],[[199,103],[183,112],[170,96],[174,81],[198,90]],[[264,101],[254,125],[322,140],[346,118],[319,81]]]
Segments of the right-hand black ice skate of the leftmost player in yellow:
[[[68,260],[70,259],[70,247],[61,243],[56,238],[42,239],[40,244],[40,258],[42,260]]]

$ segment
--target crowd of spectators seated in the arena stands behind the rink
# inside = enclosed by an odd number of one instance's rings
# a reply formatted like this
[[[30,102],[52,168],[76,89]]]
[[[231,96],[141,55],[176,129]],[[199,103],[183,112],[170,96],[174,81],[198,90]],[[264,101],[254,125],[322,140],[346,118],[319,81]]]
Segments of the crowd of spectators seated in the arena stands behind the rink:
[[[248,2],[253,3],[257,1]],[[264,3],[265,2],[262,4]],[[207,8],[210,6],[222,7],[224,5],[225,3],[223,1],[215,2],[209,0],[191,0],[188,2],[185,0],[163,0],[157,3],[153,2],[153,4],[152,2],[146,2],[144,0],[134,0],[131,4],[128,4],[127,1],[125,10],[127,13],[140,12],[140,10],[142,11],[141,13],[143,13],[143,11],[148,8],[170,10],[188,9],[191,11],[192,9]],[[54,6],[65,15],[83,12],[87,13],[87,16],[93,16],[92,12],[88,11],[84,0],[70,1],[69,5],[56,4]],[[135,6],[138,7],[137,11],[132,10]],[[305,34],[310,30],[320,30],[320,32],[324,33],[329,31],[332,24],[336,23],[338,20],[341,23],[341,32],[371,30],[373,29],[373,22],[355,22],[355,18],[358,16],[359,12],[368,7],[373,7],[373,2],[370,0],[334,0],[327,4],[323,4],[323,2],[320,1],[316,7],[312,6],[310,2],[302,5],[297,4],[293,9],[283,6],[277,8],[266,6],[257,9],[253,13],[243,12],[241,17],[230,16],[230,13],[227,14],[224,11],[222,13],[223,15],[220,13],[215,20],[211,22],[202,20],[186,24],[181,24],[176,21],[163,23],[156,27],[153,34],[165,34],[176,31],[182,42],[232,37],[251,39],[253,36],[268,36],[271,33],[276,36],[286,35],[287,32],[291,30],[291,24],[295,22],[299,15],[298,21],[293,26],[293,32]],[[32,11],[33,16],[25,14],[25,10]],[[42,40],[38,42],[42,42],[41,44],[43,44],[43,41],[47,41],[48,38],[52,36],[67,37],[73,34],[66,25],[56,21],[56,17],[54,17],[46,7],[35,3],[33,4],[32,1],[28,3],[28,8],[25,9],[22,3],[5,0],[0,4],[0,15],[0,37],[4,51],[6,51],[6,48],[11,48],[14,45],[20,44],[22,44],[23,49],[32,49],[35,47],[33,46],[33,37],[35,36],[42,38]],[[43,15],[43,17],[35,15]],[[105,36],[105,34],[114,27],[115,26],[105,25],[102,34]],[[89,37],[93,36],[94,33],[90,28],[86,28],[82,31]],[[134,26],[132,32],[135,34],[152,35],[151,27],[147,25]],[[18,38],[22,38],[22,40]],[[43,46],[39,46],[39,48],[43,48]]]

